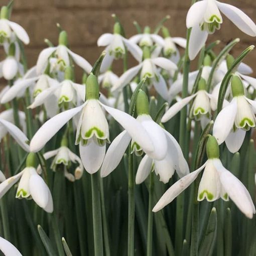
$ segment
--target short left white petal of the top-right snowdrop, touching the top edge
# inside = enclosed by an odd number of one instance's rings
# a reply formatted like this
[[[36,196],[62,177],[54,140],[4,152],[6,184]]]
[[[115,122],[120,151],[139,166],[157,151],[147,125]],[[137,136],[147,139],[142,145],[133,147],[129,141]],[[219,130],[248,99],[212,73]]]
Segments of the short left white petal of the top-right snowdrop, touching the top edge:
[[[194,26],[199,27],[199,24],[204,17],[206,7],[207,1],[199,1],[190,7],[186,18],[187,28],[192,28]]]

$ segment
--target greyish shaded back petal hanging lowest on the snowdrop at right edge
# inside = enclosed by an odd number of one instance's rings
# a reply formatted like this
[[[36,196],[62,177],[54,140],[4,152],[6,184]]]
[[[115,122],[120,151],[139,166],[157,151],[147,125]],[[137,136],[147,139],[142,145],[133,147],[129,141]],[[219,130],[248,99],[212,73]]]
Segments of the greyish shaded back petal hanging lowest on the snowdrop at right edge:
[[[245,134],[244,130],[237,129],[235,132],[231,131],[227,136],[225,143],[231,153],[236,153],[241,148]]]

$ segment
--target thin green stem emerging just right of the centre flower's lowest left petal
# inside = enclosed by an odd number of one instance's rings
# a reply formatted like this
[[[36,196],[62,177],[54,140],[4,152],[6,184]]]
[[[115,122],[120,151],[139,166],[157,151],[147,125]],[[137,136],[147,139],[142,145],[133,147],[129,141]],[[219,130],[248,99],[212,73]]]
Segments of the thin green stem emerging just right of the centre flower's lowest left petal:
[[[154,173],[150,174],[150,185],[149,185],[149,212],[148,212],[148,236],[147,236],[147,256],[152,256],[153,248],[153,196],[154,196]]]

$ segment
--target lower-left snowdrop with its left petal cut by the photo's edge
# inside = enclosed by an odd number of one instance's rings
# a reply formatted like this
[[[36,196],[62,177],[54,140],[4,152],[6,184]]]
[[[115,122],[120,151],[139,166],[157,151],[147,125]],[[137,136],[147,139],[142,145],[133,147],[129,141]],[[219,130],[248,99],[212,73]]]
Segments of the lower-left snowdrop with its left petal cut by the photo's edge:
[[[46,212],[53,212],[51,192],[44,180],[36,171],[36,155],[30,153],[27,157],[26,168],[19,174],[10,177],[0,184],[0,198],[19,180],[16,198],[33,198],[38,206]]]

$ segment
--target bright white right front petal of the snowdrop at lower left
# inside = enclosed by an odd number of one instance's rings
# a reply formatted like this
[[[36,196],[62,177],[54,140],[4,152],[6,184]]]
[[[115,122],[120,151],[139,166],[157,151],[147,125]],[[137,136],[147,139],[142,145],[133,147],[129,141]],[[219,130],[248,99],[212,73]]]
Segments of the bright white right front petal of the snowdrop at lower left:
[[[45,208],[49,200],[49,192],[47,185],[40,175],[31,175],[29,180],[29,190],[37,205],[41,208]]]

